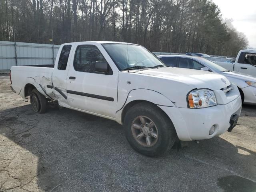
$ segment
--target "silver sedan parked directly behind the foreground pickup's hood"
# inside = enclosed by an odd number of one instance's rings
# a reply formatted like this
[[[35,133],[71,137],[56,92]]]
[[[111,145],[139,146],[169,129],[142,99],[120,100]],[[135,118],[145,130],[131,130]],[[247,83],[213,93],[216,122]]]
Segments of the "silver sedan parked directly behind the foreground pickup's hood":
[[[158,58],[168,66],[204,70],[222,74],[238,86],[242,102],[246,104],[256,104],[256,77],[226,70],[214,62],[202,57],[160,55]]]

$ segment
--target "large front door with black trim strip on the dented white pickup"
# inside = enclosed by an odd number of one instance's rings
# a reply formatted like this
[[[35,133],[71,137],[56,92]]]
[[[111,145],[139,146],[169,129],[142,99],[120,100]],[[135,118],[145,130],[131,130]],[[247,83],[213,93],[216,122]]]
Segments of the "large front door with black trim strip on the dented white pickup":
[[[104,116],[116,116],[118,72],[108,63],[108,73],[95,71],[95,64],[107,62],[109,58],[104,48],[99,45],[78,43],[74,51],[73,65],[67,76],[69,105]],[[108,61],[110,61],[108,59]],[[112,60],[111,60],[112,62]]]

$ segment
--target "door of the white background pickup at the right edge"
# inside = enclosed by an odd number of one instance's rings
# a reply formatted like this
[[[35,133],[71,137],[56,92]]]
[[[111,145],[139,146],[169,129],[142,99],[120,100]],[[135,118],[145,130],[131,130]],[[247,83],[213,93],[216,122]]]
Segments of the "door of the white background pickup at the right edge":
[[[241,52],[236,65],[239,72],[256,76],[256,53]]]

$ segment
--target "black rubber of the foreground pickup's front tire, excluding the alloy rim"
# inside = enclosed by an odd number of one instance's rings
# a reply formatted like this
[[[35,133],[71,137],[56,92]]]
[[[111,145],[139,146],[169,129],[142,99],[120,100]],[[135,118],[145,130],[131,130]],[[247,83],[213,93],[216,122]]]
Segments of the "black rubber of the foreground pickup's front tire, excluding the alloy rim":
[[[135,139],[132,124],[136,118],[138,119],[141,116],[148,117],[157,127],[158,138],[153,146],[143,146],[138,139]],[[142,132],[142,130],[140,131]],[[158,106],[150,103],[135,104],[127,111],[124,117],[124,132],[126,139],[134,150],[151,157],[169,151],[177,140],[176,130],[170,118]],[[141,137],[141,139],[143,138]]]

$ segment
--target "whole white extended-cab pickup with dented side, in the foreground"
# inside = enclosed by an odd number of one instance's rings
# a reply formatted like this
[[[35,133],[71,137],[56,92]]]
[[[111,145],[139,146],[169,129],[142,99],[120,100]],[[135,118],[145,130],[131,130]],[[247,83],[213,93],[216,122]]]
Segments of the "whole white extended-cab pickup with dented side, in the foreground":
[[[121,42],[62,44],[54,66],[13,66],[11,89],[43,113],[48,100],[115,120],[138,152],[155,156],[176,141],[231,131],[238,88],[211,72],[166,66],[146,48]]]

